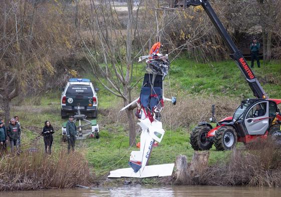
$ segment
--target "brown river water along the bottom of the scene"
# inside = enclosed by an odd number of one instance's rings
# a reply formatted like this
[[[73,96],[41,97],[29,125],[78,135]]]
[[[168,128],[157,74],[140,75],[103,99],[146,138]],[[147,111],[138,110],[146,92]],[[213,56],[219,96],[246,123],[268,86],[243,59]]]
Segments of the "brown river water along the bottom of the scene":
[[[77,197],[77,196],[237,196],[237,197],[281,197],[281,188],[268,187],[225,187],[225,186],[123,186],[92,189],[50,189],[37,191],[0,192],[1,197]]]

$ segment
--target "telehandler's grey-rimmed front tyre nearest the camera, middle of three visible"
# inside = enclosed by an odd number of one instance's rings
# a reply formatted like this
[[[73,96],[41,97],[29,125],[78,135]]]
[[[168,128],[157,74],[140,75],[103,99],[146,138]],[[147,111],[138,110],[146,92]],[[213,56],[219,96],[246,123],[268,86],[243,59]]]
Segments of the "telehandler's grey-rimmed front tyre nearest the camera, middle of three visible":
[[[237,133],[232,126],[222,126],[216,130],[214,137],[216,150],[231,150],[236,143]]]

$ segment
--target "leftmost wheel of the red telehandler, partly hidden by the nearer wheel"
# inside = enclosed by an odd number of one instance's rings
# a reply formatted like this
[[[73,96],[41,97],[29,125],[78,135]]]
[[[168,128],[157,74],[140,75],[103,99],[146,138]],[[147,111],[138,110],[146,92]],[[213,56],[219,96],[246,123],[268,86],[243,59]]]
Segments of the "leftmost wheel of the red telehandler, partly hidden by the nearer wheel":
[[[211,130],[209,126],[199,125],[190,133],[190,144],[194,150],[209,150],[213,142],[206,140],[207,133]]]

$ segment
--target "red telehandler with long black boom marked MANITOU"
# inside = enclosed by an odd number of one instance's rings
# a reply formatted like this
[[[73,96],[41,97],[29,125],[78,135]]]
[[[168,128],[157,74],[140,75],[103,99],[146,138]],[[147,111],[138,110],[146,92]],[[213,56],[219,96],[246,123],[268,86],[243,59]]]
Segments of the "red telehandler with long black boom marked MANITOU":
[[[235,61],[248,82],[255,99],[242,100],[232,117],[216,121],[214,105],[210,122],[215,122],[213,128],[209,122],[200,122],[190,134],[190,144],[194,150],[208,150],[214,144],[217,150],[230,150],[237,142],[249,143],[256,139],[268,137],[281,144],[281,115],[277,105],[281,99],[269,99],[254,73],[248,66],[242,53],[237,49],[229,34],[218,19],[207,0],[174,1],[173,8],[188,8],[202,6],[217,31],[231,50],[230,57]]]

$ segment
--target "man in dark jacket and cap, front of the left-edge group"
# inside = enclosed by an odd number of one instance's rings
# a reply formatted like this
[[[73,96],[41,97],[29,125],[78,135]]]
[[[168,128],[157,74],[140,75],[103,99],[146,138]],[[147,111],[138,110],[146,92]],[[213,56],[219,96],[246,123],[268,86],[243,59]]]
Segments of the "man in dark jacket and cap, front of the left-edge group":
[[[14,153],[14,147],[19,145],[19,138],[21,137],[21,127],[15,118],[12,118],[7,126],[7,135],[10,138],[11,152]]]

